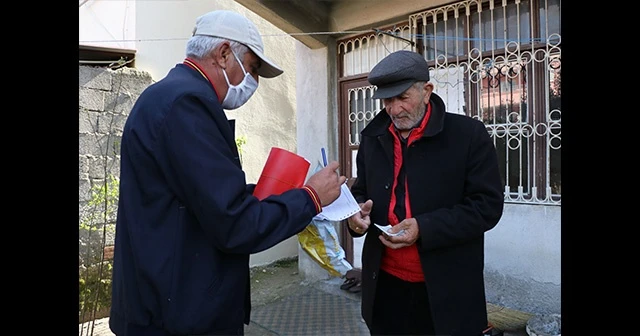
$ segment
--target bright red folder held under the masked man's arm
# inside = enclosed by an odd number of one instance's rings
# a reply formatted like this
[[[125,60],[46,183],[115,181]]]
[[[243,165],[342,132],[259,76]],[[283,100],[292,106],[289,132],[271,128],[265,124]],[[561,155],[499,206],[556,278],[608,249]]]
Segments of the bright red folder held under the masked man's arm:
[[[311,163],[302,156],[271,147],[253,195],[262,200],[267,196],[280,195],[287,190],[302,187],[309,166]]]

